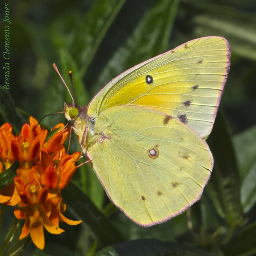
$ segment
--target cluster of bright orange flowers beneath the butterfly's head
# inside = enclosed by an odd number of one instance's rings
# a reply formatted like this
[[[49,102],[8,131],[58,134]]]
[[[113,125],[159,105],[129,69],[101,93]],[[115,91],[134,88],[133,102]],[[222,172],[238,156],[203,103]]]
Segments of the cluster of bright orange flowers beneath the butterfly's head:
[[[82,221],[72,221],[63,216],[66,205],[62,203],[61,190],[68,185],[77,166],[75,162],[80,152],[66,154],[63,146],[70,129],[62,132],[64,124],[58,124],[60,132],[48,141],[47,130],[41,129],[37,120],[29,118],[19,136],[14,136],[12,126],[5,123],[0,127],[0,173],[16,160],[19,162],[17,176],[13,183],[0,190],[0,203],[18,205],[14,214],[25,219],[20,239],[29,233],[33,243],[44,248],[44,227],[52,234],[64,232],[59,221],[77,225]],[[33,129],[34,128],[34,129]]]

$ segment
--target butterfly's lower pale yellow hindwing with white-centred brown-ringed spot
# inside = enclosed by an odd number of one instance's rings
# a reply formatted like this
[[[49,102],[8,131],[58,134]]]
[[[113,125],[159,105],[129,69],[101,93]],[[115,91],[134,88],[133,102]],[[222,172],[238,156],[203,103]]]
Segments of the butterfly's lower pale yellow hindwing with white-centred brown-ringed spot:
[[[88,141],[92,166],[108,196],[139,225],[163,222],[201,196],[213,159],[191,128],[137,106],[102,112]]]

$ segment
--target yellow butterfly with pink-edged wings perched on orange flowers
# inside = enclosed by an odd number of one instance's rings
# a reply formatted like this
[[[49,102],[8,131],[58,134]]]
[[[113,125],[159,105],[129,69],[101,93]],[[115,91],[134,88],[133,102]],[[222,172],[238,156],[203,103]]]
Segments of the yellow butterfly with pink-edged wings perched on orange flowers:
[[[200,198],[213,167],[204,139],[229,66],[225,38],[198,38],[115,77],[88,106],[64,104],[110,200],[138,225]]]

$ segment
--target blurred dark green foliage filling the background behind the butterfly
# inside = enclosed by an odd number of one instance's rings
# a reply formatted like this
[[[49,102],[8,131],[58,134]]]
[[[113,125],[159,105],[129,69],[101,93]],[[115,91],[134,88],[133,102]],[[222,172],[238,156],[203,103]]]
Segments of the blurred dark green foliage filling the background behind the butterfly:
[[[24,113],[40,119],[71,102],[52,63],[67,82],[73,71],[77,103],[87,105],[119,73],[188,40],[223,36],[232,49],[222,111],[208,139],[214,170],[197,203],[166,223],[139,227],[113,207],[91,167],[83,166],[63,198],[67,217],[84,224],[61,223],[66,232],[45,232],[44,251],[31,244],[22,255],[255,255],[255,0],[6,2],[11,85],[9,93],[0,90],[0,122],[11,122],[17,130],[28,121]],[[3,34],[3,22],[0,27]],[[47,127],[60,122],[64,115],[43,121]],[[80,149],[75,141],[73,136],[73,151]],[[5,214],[0,241],[13,219],[11,211]]]

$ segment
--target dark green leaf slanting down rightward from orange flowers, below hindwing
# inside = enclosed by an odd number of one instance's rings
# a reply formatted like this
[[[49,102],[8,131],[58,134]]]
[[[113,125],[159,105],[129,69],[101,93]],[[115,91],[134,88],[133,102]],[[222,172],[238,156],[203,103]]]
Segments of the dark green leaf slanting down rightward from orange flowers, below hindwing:
[[[123,241],[119,230],[72,181],[62,191],[62,195],[75,215],[90,227],[102,245],[106,246]]]

